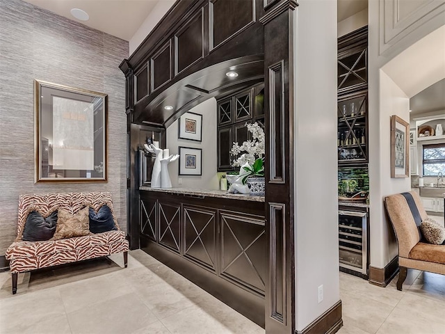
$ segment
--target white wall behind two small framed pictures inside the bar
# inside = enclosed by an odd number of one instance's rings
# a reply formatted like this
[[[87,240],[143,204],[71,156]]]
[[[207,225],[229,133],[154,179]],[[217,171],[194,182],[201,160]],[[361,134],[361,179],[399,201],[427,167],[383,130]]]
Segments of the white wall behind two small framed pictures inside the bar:
[[[178,121],[167,128],[167,148],[170,154],[178,154],[179,146],[186,148],[202,149],[202,176],[178,176],[179,160],[168,165],[173,187],[191,189],[219,189],[218,176],[216,175],[216,99],[211,99],[198,104],[190,109],[192,113],[202,115],[202,142],[187,141],[178,138]],[[182,184],[178,183],[178,178]]]

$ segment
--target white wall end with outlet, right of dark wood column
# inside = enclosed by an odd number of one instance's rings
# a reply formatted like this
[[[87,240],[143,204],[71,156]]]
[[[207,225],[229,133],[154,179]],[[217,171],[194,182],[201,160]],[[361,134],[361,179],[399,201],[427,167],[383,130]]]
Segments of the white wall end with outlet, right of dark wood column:
[[[294,29],[294,157],[296,329],[301,331],[337,303],[340,296],[337,2],[299,3]],[[317,301],[319,285],[324,290],[321,303]]]

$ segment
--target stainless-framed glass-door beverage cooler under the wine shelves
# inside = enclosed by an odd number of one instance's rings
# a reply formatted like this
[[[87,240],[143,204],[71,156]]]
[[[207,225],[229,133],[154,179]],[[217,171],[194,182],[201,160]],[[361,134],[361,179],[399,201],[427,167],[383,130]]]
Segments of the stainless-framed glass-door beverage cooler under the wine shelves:
[[[368,208],[339,207],[339,262],[347,273],[368,278]]]

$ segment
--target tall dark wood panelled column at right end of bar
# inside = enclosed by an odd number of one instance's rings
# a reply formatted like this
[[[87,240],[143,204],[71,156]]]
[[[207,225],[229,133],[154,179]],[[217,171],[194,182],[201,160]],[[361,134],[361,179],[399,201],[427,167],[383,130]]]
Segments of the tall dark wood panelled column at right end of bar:
[[[264,0],[266,333],[295,331],[293,25],[295,1]]]

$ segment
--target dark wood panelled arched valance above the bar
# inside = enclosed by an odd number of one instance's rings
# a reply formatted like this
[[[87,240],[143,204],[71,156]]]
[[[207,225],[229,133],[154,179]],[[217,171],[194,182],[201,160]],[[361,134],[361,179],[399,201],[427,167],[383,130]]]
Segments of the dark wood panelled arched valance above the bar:
[[[177,1],[120,65],[127,75],[131,122],[168,127],[210,97],[264,81],[259,4],[255,0]],[[225,75],[234,70],[238,77]],[[165,110],[165,106],[173,108]]]

